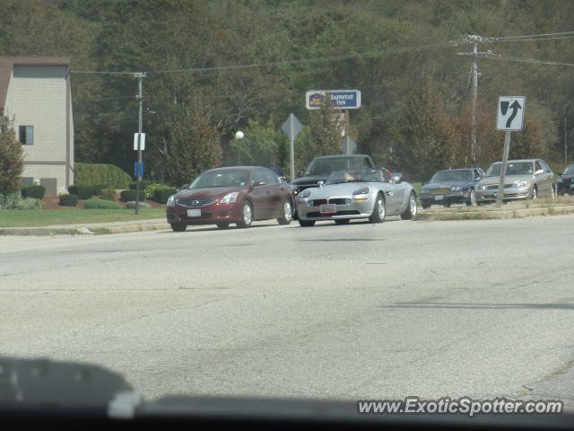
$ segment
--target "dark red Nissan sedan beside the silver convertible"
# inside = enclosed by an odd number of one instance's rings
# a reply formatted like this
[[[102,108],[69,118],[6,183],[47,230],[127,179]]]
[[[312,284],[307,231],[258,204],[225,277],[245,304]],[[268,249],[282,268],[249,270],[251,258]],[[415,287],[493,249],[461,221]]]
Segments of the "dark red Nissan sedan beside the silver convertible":
[[[290,224],[293,195],[290,184],[270,169],[232,166],[205,171],[189,186],[168,199],[167,216],[175,232],[187,224],[231,223],[248,227],[255,220],[276,218]]]

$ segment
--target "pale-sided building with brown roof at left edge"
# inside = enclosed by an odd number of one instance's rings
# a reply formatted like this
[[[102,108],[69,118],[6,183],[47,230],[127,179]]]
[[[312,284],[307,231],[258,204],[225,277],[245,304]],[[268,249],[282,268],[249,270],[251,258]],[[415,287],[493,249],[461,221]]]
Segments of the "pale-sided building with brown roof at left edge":
[[[0,110],[24,150],[22,184],[46,195],[74,183],[74,120],[67,57],[0,57]]]

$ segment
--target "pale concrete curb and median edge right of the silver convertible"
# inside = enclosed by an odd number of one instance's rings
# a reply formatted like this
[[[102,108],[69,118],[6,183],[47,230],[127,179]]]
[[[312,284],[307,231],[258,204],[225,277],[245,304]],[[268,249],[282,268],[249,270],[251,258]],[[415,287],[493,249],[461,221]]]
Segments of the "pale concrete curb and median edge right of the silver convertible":
[[[574,206],[557,205],[537,208],[516,208],[516,209],[488,209],[488,210],[468,210],[457,209],[457,211],[432,211],[428,213],[419,212],[416,215],[418,221],[444,221],[444,220],[500,220],[508,218],[526,218],[535,216],[563,216],[574,214]]]

